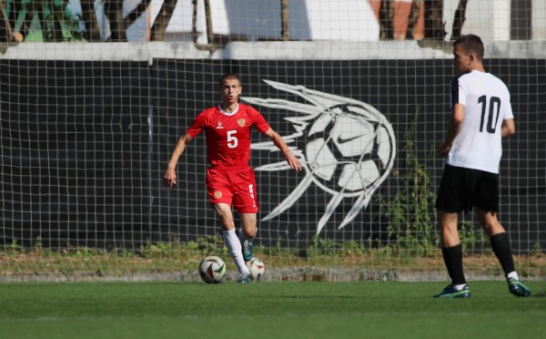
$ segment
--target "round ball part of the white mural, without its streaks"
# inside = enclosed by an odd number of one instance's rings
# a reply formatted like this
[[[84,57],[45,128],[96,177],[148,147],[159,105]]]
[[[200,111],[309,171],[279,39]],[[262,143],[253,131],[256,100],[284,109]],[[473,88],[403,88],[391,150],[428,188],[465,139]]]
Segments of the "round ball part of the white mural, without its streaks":
[[[394,136],[365,108],[339,105],[329,111],[308,130],[305,166],[323,190],[359,196],[389,174]]]

